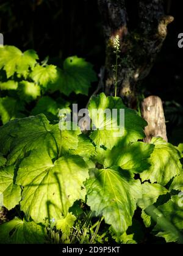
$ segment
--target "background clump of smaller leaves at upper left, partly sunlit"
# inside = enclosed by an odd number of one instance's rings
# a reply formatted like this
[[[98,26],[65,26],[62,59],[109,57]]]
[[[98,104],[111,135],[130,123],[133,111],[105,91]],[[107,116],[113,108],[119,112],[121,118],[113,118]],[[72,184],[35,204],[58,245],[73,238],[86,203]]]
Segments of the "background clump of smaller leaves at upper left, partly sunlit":
[[[70,103],[63,99],[70,93],[88,95],[96,81],[93,66],[77,56],[63,61],[63,68],[39,63],[34,50],[24,53],[15,46],[0,48],[0,118],[2,123],[17,117],[44,113],[57,120],[59,109]],[[52,98],[52,93],[57,97]]]

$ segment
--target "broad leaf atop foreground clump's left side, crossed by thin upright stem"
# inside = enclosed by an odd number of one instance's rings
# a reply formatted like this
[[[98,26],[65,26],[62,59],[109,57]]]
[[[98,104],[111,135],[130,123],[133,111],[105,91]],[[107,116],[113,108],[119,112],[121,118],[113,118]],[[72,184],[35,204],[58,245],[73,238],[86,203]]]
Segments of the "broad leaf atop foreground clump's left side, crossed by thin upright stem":
[[[40,148],[48,150],[51,158],[56,158],[62,144],[62,153],[77,148],[81,131],[62,131],[60,141],[59,124],[51,125],[45,115],[40,114],[13,120],[0,127],[0,152],[6,155],[7,164],[13,164],[30,152]]]

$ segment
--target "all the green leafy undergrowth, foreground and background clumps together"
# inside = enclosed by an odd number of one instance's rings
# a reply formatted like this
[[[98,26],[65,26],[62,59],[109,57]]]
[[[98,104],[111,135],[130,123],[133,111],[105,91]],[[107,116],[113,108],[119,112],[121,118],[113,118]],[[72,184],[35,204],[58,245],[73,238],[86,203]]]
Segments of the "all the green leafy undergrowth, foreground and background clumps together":
[[[0,243],[183,243],[182,145],[140,141],[145,120],[104,93],[88,104],[95,129],[82,133],[71,123],[77,129],[60,130],[67,121],[52,118],[68,104],[48,93],[86,94],[96,78],[91,65],[77,57],[62,70],[40,65],[34,51],[13,46],[0,48],[0,56],[7,93],[0,103],[0,195],[10,214]],[[26,108],[35,99],[24,112],[32,115],[20,116],[20,100]],[[116,119],[102,119],[105,109],[117,109]]]

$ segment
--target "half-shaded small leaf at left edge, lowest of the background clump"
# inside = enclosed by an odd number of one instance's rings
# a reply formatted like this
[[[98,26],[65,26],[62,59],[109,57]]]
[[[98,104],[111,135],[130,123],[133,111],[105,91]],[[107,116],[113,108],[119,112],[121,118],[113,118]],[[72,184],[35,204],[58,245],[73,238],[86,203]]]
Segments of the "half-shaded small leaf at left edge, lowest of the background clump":
[[[2,123],[5,124],[16,117],[24,117],[23,103],[11,97],[0,98],[0,116]]]

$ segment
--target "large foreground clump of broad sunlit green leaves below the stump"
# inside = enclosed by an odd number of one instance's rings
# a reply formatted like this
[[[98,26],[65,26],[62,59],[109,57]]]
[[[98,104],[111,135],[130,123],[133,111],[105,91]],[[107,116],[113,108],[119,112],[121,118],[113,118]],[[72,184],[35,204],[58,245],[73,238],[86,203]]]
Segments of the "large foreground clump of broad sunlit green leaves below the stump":
[[[107,130],[112,119],[91,115],[106,108],[124,109],[124,127],[114,123]],[[160,137],[138,141],[146,122],[121,98],[101,93],[88,111],[96,129],[86,134],[60,131],[44,114],[0,127],[0,192],[6,208],[19,205],[23,213],[0,225],[1,243],[47,243],[48,237],[59,243],[142,243],[137,232],[147,228],[164,241],[182,243],[181,146]],[[123,133],[116,137],[117,131]],[[86,224],[88,209],[92,225]]]

